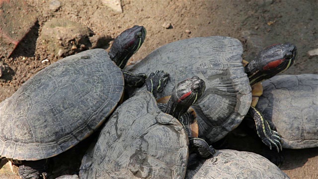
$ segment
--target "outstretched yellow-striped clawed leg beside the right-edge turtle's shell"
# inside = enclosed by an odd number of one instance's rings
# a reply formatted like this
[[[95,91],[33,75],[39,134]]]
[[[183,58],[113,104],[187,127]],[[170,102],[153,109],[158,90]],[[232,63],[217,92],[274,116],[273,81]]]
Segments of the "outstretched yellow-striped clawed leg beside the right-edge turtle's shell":
[[[281,137],[277,131],[270,128],[263,114],[253,106],[250,106],[248,114],[254,119],[257,135],[261,138],[262,142],[267,145],[269,149],[272,149],[272,145],[274,145],[277,152],[279,152],[279,150],[283,150]]]

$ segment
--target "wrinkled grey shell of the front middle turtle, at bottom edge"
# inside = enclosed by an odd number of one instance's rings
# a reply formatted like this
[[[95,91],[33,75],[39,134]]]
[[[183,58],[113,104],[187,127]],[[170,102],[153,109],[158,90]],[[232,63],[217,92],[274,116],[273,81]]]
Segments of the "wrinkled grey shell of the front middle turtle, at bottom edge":
[[[80,179],[183,179],[188,138],[153,94],[142,91],[117,107],[86,154],[92,160],[82,160]]]

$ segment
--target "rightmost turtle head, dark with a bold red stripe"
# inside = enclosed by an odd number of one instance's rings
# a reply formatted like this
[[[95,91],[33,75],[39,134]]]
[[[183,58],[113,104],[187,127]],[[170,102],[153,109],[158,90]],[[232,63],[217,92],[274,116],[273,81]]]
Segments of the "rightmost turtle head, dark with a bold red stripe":
[[[245,66],[250,85],[270,79],[291,67],[297,56],[297,48],[291,43],[274,44],[261,51]]]

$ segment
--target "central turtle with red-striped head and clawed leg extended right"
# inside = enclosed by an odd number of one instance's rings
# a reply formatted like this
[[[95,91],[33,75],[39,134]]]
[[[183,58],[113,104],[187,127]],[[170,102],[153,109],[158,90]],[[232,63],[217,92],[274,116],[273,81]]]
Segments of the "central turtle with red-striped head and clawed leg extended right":
[[[247,113],[252,113],[258,136],[270,149],[273,145],[279,151],[279,135],[251,106],[251,86],[292,66],[297,48],[290,43],[272,45],[245,67],[242,65],[242,51],[242,44],[235,38],[190,38],[159,47],[125,70],[148,74],[157,69],[169,73],[170,81],[159,97],[168,96],[168,91],[180,79],[198,76],[207,84],[205,93],[192,106],[197,113],[199,138],[208,144],[218,141],[235,129]]]

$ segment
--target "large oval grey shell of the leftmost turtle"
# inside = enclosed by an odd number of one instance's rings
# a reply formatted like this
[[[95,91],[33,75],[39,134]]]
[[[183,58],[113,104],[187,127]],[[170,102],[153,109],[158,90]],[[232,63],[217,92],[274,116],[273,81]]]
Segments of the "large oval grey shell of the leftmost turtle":
[[[114,110],[123,74],[104,49],[51,64],[0,103],[0,156],[40,160],[90,135]]]

